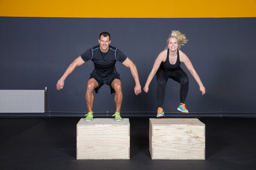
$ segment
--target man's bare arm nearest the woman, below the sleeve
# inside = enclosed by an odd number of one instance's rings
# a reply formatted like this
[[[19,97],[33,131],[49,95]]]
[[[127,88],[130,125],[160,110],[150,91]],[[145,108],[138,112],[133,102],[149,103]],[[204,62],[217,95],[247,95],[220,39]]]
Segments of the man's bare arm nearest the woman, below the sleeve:
[[[142,86],[139,83],[139,74],[135,64],[132,62],[132,60],[129,60],[128,57],[126,60],[124,60],[124,62],[122,62],[122,64],[124,64],[125,67],[128,67],[131,70],[132,77],[134,77],[134,81],[135,81],[134,93],[136,95],[141,94]]]

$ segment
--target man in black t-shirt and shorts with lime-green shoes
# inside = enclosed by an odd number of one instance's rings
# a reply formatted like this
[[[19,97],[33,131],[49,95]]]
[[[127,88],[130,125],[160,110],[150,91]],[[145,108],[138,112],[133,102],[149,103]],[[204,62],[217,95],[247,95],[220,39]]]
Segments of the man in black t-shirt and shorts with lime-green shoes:
[[[90,79],[87,82],[87,89],[85,93],[85,101],[88,108],[88,113],[85,115],[85,120],[91,121],[93,118],[92,103],[94,100],[93,90],[97,93],[103,84],[110,86],[111,94],[115,92],[114,102],[116,105],[116,111],[114,118],[117,121],[121,121],[120,109],[122,105],[122,84],[119,78],[119,74],[115,69],[115,62],[119,61],[124,66],[129,67],[134,77],[135,87],[134,93],[136,95],[142,93],[141,85],[139,84],[139,75],[137,68],[132,60],[129,60],[120,50],[116,47],[110,46],[110,33],[100,33],[99,44],[95,47],[85,51],[80,57],[75,59],[68,69],[64,72],[63,76],[58,80],[56,85],[57,89],[63,89],[65,79],[71,74],[75,67],[78,67],[88,60],[92,60],[95,64],[95,69],[90,74]]]

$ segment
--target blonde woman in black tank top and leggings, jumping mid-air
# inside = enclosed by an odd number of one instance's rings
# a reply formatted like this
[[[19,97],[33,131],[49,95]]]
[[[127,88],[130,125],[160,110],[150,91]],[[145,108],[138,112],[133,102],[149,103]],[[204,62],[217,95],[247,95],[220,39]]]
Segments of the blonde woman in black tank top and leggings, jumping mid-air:
[[[147,93],[149,91],[149,84],[156,74],[157,88],[156,88],[156,98],[157,98],[157,115],[156,117],[164,116],[163,103],[164,94],[167,80],[174,79],[179,84],[181,84],[180,89],[180,105],[177,110],[182,113],[188,113],[185,106],[186,96],[188,94],[188,76],[181,69],[180,64],[183,62],[188,71],[191,72],[194,79],[199,85],[199,89],[203,94],[206,94],[206,88],[203,86],[201,79],[199,78],[196,70],[193,68],[191,61],[188,59],[185,53],[181,50],[182,45],[184,45],[188,40],[186,36],[179,32],[178,30],[173,30],[169,38],[167,39],[167,47],[164,51],[160,52],[158,57],[154,62],[154,66],[149,74],[146,84],[144,86],[144,91]]]

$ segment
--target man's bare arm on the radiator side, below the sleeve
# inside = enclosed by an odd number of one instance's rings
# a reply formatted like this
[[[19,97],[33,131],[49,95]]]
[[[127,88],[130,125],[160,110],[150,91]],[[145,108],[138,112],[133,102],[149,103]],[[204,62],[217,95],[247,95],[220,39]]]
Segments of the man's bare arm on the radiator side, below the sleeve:
[[[75,67],[78,67],[82,64],[84,64],[85,61],[82,60],[82,57],[78,57],[77,59],[75,59],[71,64],[70,66],[68,67],[68,69],[66,69],[66,71],[64,72],[63,76],[58,80],[57,84],[56,84],[56,89],[57,90],[60,90],[60,89],[63,89],[63,86],[65,84],[65,79],[68,77],[69,74],[71,74]]]

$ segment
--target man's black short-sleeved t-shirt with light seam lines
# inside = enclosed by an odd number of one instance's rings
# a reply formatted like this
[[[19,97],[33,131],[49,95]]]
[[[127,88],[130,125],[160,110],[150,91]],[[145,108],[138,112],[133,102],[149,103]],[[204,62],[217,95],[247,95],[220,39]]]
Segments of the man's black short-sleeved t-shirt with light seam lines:
[[[127,59],[127,56],[125,56],[116,47],[110,46],[108,52],[101,52],[100,45],[90,48],[80,56],[85,62],[92,60],[92,62],[95,64],[95,69],[93,72],[98,74],[100,77],[107,77],[108,75],[116,73],[114,64],[117,61],[122,63]]]

